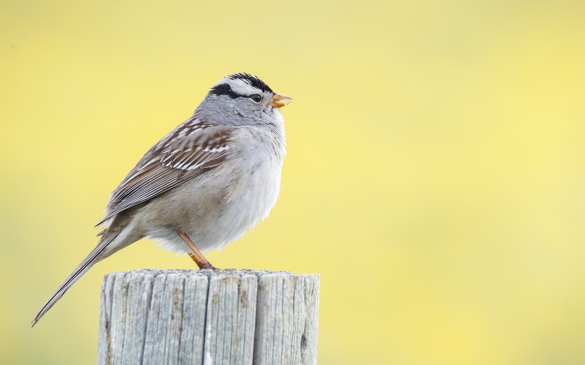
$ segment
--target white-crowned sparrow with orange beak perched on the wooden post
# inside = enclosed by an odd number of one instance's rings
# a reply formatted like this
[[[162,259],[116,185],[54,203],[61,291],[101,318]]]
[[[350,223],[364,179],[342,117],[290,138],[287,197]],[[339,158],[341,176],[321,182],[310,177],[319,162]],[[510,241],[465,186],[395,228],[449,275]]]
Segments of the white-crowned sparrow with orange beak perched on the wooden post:
[[[247,73],[221,78],[116,187],[96,225],[104,228],[97,246],[30,327],[95,263],[142,238],[216,269],[203,253],[242,237],[276,204],[286,154],[280,107],[291,101]]]

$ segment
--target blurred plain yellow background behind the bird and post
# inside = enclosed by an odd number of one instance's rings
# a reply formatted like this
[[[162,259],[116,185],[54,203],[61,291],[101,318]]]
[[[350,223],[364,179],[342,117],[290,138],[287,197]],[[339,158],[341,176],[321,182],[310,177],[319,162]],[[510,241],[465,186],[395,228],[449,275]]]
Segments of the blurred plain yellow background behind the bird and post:
[[[108,194],[226,74],[259,75],[288,155],[218,267],[321,274],[320,364],[585,363],[585,2],[0,5],[0,363],[95,363]]]

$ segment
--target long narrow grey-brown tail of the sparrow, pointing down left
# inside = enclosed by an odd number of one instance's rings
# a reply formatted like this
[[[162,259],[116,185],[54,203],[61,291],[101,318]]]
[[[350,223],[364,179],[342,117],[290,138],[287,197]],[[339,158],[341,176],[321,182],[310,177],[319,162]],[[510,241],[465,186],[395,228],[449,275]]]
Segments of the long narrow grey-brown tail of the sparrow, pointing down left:
[[[43,305],[43,308],[41,308],[39,313],[36,315],[35,319],[33,319],[32,324],[30,324],[30,328],[33,328],[36,322],[38,322],[39,319],[43,317],[43,315],[47,311],[49,311],[51,307],[53,307],[53,305],[57,303],[57,301],[61,297],[63,297],[63,294],[65,294],[67,290],[73,287],[73,284],[77,283],[77,280],[81,279],[81,277],[84,276],[84,274],[87,273],[91,269],[91,267],[95,265],[96,262],[104,258],[102,253],[104,253],[104,250],[108,247],[108,245],[111,244],[116,237],[118,237],[120,231],[111,232],[111,234],[108,233],[109,232],[106,232],[106,234],[102,236],[102,238],[98,242],[98,245],[95,246],[93,251],[91,251],[91,253],[87,256],[87,258],[85,258],[80,263],[80,265],[77,266],[73,273],[71,273],[71,275],[67,277],[67,279],[63,282],[63,284],[61,284],[57,291],[55,291],[55,293],[53,293],[49,300],[47,300],[47,303]],[[109,255],[107,255],[106,253],[106,256]]]

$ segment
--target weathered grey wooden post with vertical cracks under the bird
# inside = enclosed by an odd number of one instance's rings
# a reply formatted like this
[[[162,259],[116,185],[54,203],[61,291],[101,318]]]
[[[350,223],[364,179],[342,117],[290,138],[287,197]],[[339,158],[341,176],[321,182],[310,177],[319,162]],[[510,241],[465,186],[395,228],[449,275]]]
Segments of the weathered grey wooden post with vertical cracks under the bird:
[[[133,270],[104,276],[98,365],[316,364],[319,275]]]

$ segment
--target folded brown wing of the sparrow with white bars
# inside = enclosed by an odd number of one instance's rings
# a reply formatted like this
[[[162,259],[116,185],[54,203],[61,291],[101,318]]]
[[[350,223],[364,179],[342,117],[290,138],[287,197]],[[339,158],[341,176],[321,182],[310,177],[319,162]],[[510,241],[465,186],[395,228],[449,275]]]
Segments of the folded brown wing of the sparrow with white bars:
[[[230,128],[178,126],[144,155],[114,190],[106,216],[97,225],[137,204],[176,187],[221,164],[229,150]],[[187,133],[185,133],[187,128]],[[172,142],[171,142],[172,140]]]

